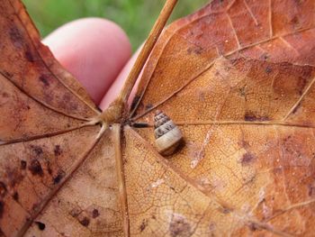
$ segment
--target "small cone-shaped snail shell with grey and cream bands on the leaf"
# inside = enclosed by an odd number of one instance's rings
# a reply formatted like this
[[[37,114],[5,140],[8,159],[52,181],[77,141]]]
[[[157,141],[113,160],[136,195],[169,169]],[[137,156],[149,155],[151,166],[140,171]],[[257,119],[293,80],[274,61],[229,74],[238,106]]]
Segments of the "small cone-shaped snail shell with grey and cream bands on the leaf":
[[[182,132],[166,114],[157,110],[154,117],[157,151],[165,156],[173,154],[183,141]]]

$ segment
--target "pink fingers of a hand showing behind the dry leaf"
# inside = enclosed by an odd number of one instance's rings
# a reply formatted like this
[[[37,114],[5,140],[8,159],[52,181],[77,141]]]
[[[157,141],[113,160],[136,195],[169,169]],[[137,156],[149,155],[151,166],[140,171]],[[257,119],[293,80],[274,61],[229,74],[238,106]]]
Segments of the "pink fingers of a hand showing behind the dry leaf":
[[[67,23],[43,43],[102,109],[118,95],[136,58],[130,58],[130,41],[121,27],[100,18]]]

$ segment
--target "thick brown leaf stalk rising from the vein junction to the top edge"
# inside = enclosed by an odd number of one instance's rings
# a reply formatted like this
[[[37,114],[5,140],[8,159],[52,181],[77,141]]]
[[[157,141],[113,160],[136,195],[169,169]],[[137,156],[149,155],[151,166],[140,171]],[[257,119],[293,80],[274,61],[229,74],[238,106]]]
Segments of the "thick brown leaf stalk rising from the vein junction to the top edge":
[[[121,89],[120,95],[112,102],[111,105],[109,105],[109,108],[100,115],[103,122],[119,122],[123,114],[127,112],[127,101],[132,87],[135,85],[149,54],[155,46],[159,35],[163,31],[169,16],[172,14],[177,1],[178,0],[166,0],[161,13],[158,15],[156,23],[154,24],[151,32],[148,34],[148,40],[145,42],[135,64],[130,70],[130,74]]]

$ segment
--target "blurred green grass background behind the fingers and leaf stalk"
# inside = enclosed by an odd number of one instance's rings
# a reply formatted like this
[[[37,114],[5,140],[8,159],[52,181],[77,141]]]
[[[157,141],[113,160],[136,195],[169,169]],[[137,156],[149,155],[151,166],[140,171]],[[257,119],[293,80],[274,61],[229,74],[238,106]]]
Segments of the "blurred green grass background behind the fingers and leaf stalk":
[[[209,0],[179,0],[170,21],[192,14]],[[45,37],[58,26],[87,16],[112,20],[127,32],[136,50],[157,19],[164,0],[23,0],[31,18]]]

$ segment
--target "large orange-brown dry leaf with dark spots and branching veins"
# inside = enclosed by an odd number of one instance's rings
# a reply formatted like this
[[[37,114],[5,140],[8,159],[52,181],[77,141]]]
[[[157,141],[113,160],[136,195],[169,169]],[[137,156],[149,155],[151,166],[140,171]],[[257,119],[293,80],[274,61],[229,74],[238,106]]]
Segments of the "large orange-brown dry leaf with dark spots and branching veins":
[[[311,236],[314,8],[214,0],[173,23],[129,115],[106,126],[20,2],[2,0],[4,235]],[[152,127],[132,127],[156,109],[184,133],[168,159]]]

